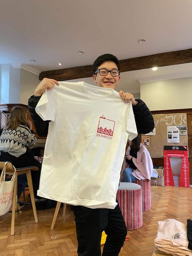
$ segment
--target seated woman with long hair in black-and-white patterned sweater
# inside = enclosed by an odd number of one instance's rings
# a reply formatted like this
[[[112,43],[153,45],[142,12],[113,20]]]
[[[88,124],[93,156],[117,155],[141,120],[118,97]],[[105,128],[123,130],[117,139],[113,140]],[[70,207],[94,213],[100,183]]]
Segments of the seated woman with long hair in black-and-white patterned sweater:
[[[27,120],[26,109],[20,106],[14,106],[6,126],[1,130],[0,161],[11,162],[15,168],[27,166],[38,167],[38,171],[31,172],[34,196],[36,201],[38,201],[42,200],[42,197],[37,196],[41,174],[41,163],[34,158],[33,153],[29,149],[30,146],[35,145],[36,143],[37,139],[32,130],[32,123],[30,120]],[[10,176],[8,176],[8,178],[10,178]],[[18,198],[21,196],[26,184],[26,174],[18,175]]]

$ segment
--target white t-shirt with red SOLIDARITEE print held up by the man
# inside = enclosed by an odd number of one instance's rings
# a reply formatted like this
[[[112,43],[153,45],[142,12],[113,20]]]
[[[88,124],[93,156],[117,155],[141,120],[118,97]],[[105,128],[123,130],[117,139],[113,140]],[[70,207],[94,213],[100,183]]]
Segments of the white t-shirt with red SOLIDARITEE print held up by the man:
[[[51,120],[38,196],[114,209],[127,139],[137,136],[131,102],[113,89],[59,82],[36,112]]]

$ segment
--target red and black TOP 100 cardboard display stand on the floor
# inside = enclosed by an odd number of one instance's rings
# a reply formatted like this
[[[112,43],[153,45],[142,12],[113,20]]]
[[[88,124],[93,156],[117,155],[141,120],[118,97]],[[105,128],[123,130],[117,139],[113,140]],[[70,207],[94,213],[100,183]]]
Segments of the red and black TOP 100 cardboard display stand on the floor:
[[[180,175],[173,175],[170,157],[181,157]],[[176,185],[176,178],[179,179],[179,187],[189,188],[189,158],[187,146],[164,146],[164,174],[165,186]]]

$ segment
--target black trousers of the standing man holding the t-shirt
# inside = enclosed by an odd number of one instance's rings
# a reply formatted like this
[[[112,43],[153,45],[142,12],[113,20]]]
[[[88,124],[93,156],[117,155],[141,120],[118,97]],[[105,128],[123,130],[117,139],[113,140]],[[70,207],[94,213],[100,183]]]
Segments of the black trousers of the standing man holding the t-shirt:
[[[117,201],[118,202],[118,201]],[[115,209],[91,209],[71,206],[76,222],[79,256],[101,256],[101,235],[107,239],[102,256],[118,256],[127,235],[119,204]]]

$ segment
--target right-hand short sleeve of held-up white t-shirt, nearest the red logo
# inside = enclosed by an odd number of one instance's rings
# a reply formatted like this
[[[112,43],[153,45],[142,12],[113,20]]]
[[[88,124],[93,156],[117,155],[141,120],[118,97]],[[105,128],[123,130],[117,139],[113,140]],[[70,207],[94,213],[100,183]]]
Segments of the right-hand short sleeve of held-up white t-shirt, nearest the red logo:
[[[129,104],[129,105],[128,105]],[[127,103],[127,111],[125,114],[125,120],[126,120],[126,132],[129,134],[128,139],[132,141],[135,137],[137,137],[137,127],[135,123],[135,117],[133,114],[133,108],[131,101],[130,103]]]

